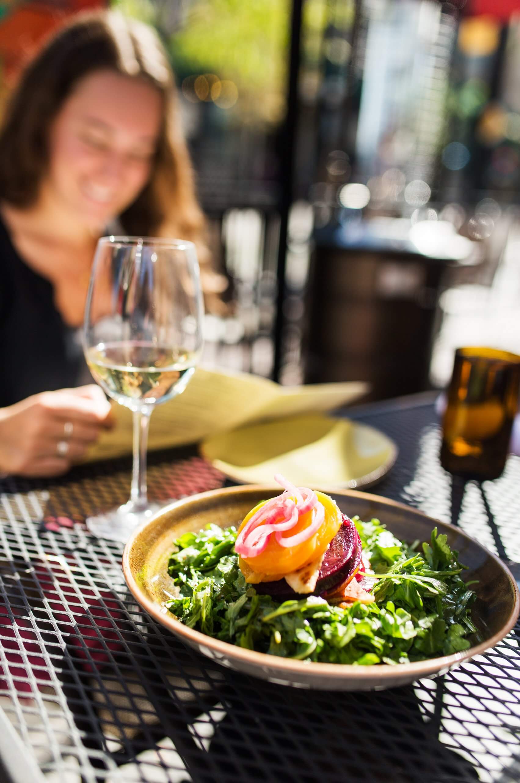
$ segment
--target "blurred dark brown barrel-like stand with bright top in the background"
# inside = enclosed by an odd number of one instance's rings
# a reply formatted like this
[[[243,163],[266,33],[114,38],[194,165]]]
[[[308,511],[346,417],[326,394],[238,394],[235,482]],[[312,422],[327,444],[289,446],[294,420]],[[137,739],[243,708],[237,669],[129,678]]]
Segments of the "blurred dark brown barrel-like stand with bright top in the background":
[[[426,229],[443,233],[439,224]],[[469,240],[465,256],[461,252],[458,239],[464,238],[456,233],[451,245],[432,241],[428,254],[410,236],[409,221],[391,218],[316,232],[306,382],[370,381],[368,399],[374,400],[431,388],[443,276],[450,266],[475,259]]]

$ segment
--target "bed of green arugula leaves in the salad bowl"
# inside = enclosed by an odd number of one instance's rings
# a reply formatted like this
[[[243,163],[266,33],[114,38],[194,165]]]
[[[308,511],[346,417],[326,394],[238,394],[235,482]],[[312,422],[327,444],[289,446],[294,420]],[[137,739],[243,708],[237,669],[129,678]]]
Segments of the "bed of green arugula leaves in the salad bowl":
[[[166,606],[190,628],[243,648],[285,658],[350,663],[408,663],[465,650],[476,634],[475,593],[446,536],[432,531],[422,554],[377,519],[354,518],[371,561],[375,603],[347,608],[315,596],[274,601],[248,585],[235,554],[235,528],[207,525],[175,541],[168,563],[178,597]]]

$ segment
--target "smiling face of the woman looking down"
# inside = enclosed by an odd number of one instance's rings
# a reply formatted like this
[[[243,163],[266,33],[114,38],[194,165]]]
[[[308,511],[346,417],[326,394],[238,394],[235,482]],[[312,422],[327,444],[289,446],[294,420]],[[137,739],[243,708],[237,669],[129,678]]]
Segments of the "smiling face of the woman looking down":
[[[160,92],[111,70],[78,82],[52,124],[41,194],[102,229],[149,179],[162,121]]]

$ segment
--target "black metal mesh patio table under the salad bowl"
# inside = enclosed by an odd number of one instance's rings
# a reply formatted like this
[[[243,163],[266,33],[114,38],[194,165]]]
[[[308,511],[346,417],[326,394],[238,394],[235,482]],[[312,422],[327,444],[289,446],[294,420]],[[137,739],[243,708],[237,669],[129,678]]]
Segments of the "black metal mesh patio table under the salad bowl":
[[[520,458],[495,482],[452,486],[431,399],[350,415],[400,448],[372,491],[520,562]],[[87,514],[126,500],[129,483],[130,461],[116,460],[0,485],[0,780],[520,780],[518,626],[444,677],[391,691],[297,690],[223,669],[140,612],[122,547],[84,529]],[[223,483],[195,449],[150,457],[159,500]]]

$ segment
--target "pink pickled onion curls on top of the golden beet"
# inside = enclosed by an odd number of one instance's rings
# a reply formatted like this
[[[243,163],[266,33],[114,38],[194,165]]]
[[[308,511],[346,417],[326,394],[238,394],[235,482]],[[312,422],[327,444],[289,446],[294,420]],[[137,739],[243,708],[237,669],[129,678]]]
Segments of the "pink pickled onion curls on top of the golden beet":
[[[279,473],[274,476],[274,480],[285,492],[267,500],[238,533],[235,552],[242,557],[251,558],[261,554],[273,533],[281,547],[296,547],[314,536],[325,520],[325,508],[312,489],[296,487]],[[294,536],[284,538],[282,533],[294,528],[299,517],[308,511],[313,512],[310,525]]]

